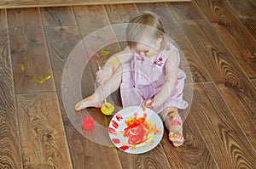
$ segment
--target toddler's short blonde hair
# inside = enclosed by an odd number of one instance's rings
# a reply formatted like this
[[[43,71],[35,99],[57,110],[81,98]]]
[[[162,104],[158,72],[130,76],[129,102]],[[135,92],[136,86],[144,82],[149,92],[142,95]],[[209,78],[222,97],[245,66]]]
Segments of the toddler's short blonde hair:
[[[134,47],[139,42],[143,33],[147,32],[155,39],[160,36],[164,38],[165,30],[160,17],[149,11],[143,11],[136,14],[127,25],[126,38],[129,47]],[[164,41],[162,41],[164,42]]]

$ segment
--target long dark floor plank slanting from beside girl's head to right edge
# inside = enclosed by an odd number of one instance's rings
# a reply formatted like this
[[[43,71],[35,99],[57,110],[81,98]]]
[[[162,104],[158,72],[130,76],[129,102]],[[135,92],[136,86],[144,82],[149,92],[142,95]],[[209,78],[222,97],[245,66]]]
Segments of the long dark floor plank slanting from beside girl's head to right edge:
[[[197,53],[201,55],[201,60],[207,66],[213,81],[220,88],[224,99],[228,100],[236,119],[244,124],[242,126],[246,127],[245,131],[250,131],[247,132],[250,136],[254,132],[253,126],[255,125],[255,121],[251,119],[255,119],[256,93],[247,75],[241,70],[229,50],[224,48],[224,44],[207,21],[179,21],[179,24]],[[236,101],[236,104],[230,100]],[[240,118],[240,110],[245,112],[244,118]],[[248,123],[248,121],[251,122]]]

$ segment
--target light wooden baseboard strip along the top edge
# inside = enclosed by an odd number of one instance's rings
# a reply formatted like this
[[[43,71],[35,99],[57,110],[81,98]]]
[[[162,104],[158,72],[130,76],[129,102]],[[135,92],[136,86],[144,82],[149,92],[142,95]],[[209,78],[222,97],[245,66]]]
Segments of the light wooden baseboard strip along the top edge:
[[[166,0],[166,2],[190,2],[191,0]],[[53,6],[74,6],[74,5],[99,5],[113,3],[155,3],[156,0],[2,0],[0,8],[28,8],[28,7],[53,7]]]

